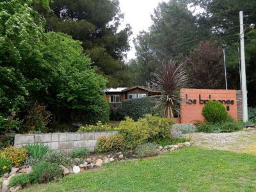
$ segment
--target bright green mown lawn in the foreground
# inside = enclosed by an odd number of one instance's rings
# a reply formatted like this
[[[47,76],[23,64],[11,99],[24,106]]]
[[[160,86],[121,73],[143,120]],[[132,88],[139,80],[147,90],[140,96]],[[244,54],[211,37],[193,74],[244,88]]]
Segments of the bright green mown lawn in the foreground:
[[[256,159],[191,147],[107,164],[28,191],[256,191]]]

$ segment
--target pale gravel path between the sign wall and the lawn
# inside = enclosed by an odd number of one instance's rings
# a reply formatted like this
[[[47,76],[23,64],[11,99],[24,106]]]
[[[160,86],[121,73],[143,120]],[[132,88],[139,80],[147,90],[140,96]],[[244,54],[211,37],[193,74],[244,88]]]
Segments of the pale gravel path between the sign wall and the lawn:
[[[255,130],[230,133],[196,132],[185,135],[187,138],[191,137],[194,146],[256,154]]]

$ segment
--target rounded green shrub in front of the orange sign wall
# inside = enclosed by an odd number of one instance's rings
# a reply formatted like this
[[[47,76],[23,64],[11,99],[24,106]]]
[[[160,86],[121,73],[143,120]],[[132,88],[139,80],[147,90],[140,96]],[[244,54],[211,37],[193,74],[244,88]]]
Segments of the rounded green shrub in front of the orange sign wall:
[[[225,122],[228,113],[221,102],[209,100],[203,108],[202,115],[204,115],[207,122],[215,124]]]

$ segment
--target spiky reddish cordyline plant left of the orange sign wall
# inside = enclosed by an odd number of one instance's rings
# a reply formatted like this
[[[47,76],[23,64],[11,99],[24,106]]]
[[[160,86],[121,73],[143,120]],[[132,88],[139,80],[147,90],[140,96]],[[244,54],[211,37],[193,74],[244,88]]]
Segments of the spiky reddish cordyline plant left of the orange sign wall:
[[[175,111],[180,114],[180,88],[188,86],[188,75],[183,63],[173,60],[163,62],[161,70],[154,74],[152,85],[161,92],[156,100],[156,108],[161,109],[160,115],[173,118]]]

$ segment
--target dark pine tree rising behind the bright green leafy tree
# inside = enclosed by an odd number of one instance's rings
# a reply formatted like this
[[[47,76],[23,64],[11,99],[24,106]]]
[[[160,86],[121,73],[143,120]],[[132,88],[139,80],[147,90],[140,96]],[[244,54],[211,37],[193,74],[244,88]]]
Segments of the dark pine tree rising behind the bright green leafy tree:
[[[92,58],[99,73],[109,79],[108,86],[124,86],[127,79],[116,75],[124,74],[125,52],[129,51],[128,38],[131,28],[117,31],[120,19],[117,0],[55,0],[50,4],[51,12],[40,6],[36,10],[46,19],[45,29],[67,33],[83,42],[83,48]]]

